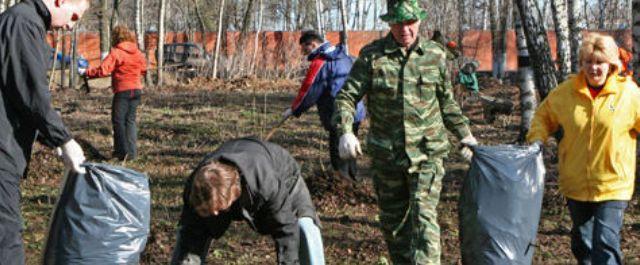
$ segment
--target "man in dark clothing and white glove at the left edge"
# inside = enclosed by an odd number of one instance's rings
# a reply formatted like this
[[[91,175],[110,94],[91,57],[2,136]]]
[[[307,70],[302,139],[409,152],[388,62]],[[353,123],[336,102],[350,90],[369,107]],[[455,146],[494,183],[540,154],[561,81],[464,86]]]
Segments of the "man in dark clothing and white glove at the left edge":
[[[69,170],[84,173],[82,148],[51,106],[49,29],[70,29],[88,0],[23,0],[0,14],[0,263],[24,264],[20,178],[33,142],[58,148]]]

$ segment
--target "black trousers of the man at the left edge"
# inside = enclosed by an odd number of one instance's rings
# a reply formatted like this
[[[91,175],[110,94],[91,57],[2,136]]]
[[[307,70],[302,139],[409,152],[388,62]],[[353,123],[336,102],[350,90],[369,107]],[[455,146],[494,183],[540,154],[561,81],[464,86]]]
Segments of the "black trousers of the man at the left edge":
[[[0,170],[0,264],[24,263],[20,177]]]

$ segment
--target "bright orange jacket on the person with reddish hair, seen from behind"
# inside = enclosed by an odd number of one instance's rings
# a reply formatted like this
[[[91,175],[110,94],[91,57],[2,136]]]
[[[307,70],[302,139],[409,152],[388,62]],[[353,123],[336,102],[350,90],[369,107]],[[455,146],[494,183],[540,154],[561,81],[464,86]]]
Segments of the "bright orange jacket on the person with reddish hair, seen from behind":
[[[141,77],[147,72],[144,54],[133,42],[121,42],[111,48],[111,52],[100,66],[87,70],[87,77],[107,77],[111,75],[113,93],[132,89],[142,89]]]

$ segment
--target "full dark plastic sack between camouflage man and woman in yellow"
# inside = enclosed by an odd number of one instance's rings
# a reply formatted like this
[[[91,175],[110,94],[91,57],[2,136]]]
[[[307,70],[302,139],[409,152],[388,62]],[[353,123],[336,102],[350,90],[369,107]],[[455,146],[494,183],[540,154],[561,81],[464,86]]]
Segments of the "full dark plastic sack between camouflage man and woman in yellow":
[[[544,174],[539,148],[474,148],[459,201],[463,264],[531,264]]]

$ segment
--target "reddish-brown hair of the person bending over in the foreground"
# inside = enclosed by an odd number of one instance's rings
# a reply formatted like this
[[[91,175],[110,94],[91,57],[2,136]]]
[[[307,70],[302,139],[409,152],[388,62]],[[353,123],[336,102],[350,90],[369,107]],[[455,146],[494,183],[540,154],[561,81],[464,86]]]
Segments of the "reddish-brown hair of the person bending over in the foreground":
[[[240,197],[240,172],[233,165],[213,161],[196,172],[189,201],[194,209],[205,206],[212,213],[222,211]]]

